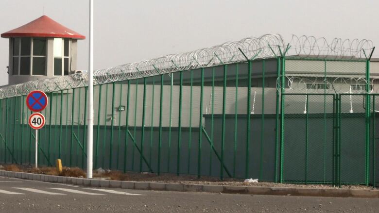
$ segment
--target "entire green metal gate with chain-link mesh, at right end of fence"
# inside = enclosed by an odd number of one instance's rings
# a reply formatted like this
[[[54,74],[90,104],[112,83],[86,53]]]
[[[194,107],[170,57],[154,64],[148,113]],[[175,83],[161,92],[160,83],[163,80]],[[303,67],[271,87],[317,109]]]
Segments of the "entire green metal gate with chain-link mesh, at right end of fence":
[[[378,96],[282,94],[282,181],[375,187]]]

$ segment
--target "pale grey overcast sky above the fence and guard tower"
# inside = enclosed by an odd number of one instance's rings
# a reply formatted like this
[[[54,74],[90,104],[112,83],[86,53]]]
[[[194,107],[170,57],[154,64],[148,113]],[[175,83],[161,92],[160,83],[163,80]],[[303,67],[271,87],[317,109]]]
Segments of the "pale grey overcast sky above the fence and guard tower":
[[[94,68],[106,68],[280,33],[371,39],[377,0],[94,0]],[[0,33],[43,15],[88,36],[88,0],[1,0]],[[78,41],[87,70],[88,40]],[[0,85],[8,83],[8,39],[0,38]],[[379,57],[379,50],[374,53]]]

